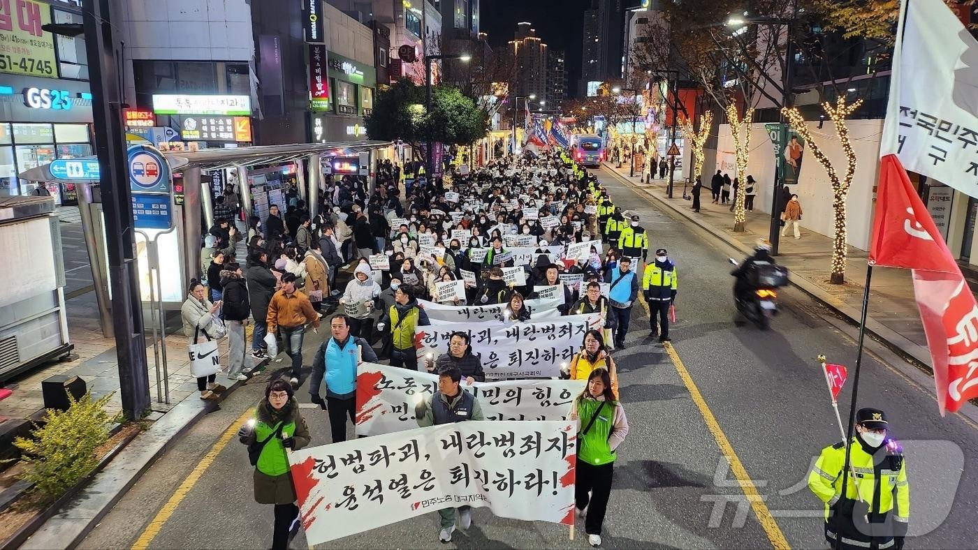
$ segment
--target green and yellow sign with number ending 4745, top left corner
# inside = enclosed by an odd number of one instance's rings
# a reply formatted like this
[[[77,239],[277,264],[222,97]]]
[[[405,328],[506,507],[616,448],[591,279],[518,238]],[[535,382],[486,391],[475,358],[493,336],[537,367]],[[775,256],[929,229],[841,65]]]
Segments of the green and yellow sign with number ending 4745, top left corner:
[[[41,25],[51,7],[31,0],[0,0],[0,72],[58,78],[55,39]]]

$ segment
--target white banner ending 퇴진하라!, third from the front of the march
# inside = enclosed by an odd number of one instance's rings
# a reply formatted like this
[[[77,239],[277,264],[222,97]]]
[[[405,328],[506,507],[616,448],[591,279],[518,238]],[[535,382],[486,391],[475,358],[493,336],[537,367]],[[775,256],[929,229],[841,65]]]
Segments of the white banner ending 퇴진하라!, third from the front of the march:
[[[428,311],[427,307],[424,311]],[[415,342],[419,370],[424,370],[426,354],[438,357],[448,353],[452,333],[462,331],[471,337],[472,353],[482,360],[487,379],[557,376],[560,364],[570,362],[581,349],[584,333],[602,324],[600,315],[592,314],[522,322],[496,320],[418,326]]]

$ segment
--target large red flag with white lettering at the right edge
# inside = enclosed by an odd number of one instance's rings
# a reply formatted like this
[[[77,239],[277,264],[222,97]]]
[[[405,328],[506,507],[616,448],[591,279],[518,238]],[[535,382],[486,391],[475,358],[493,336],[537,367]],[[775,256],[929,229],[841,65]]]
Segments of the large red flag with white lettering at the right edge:
[[[978,303],[895,154],[880,159],[869,262],[913,272],[941,415],[978,397]]]

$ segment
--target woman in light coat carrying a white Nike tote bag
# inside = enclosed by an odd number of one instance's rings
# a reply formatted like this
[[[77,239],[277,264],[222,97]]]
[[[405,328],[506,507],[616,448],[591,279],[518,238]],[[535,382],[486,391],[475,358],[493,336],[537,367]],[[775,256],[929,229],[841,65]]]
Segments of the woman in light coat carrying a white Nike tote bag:
[[[191,353],[191,373],[198,375],[197,389],[200,391],[200,399],[204,401],[215,401],[218,399],[217,394],[227,390],[214,382],[220,364],[211,357],[220,355],[217,351],[217,340],[227,334],[224,323],[217,317],[220,309],[220,301],[212,304],[207,300],[207,289],[200,280],[191,279],[187,300],[180,307],[180,317],[183,319],[184,334],[187,335],[187,345]],[[200,335],[204,336],[205,343],[199,341]],[[211,370],[212,372],[207,372]]]

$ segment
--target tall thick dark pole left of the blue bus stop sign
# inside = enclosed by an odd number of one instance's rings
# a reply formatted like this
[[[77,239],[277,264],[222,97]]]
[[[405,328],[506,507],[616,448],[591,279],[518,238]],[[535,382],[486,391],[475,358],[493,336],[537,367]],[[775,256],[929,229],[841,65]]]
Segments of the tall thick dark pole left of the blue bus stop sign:
[[[109,256],[112,326],[118,360],[122,411],[130,420],[150,406],[142,302],[137,289],[134,257],[132,197],[122,134],[121,86],[116,72],[117,42],[112,36],[112,3],[84,0],[85,43],[88,45],[89,85],[95,149],[102,175],[102,208]]]

